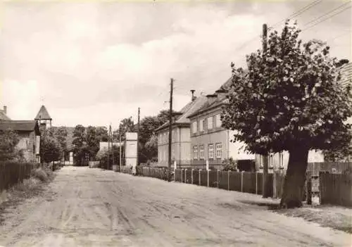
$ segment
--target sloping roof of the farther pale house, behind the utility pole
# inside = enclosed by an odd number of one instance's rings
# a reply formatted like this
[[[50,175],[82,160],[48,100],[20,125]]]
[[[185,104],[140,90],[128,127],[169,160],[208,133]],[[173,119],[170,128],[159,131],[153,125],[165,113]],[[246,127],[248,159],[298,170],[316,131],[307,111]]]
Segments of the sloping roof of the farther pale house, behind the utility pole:
[[[176,118],[175,122],[172,122],[172,125],[190,125],[191,121],[189,120],[188,116],[196,112],[196,110],[198,110],[199,108],[201,108],[201,106],[203,106],[206,101],[208,101],[206,96],[199,96],[194,101],[187,103],[187,105],[180,110],[182,115],[179,115]],[[158,127],[158,129],[156,129],[156,132],[160,131],[161,129],[165,129],[168,126],[169,122],[165,122],[165,124],[161,125],[161,127]]]

